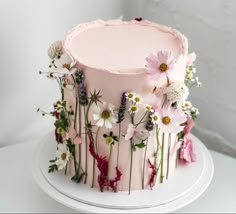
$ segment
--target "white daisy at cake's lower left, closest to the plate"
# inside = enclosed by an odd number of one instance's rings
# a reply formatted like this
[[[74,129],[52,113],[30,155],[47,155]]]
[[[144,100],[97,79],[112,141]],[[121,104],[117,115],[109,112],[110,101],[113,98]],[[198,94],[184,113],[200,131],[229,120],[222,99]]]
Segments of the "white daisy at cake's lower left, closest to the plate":
[[[55,155],[57,158],[55,164],[57,165],[58,170],[64,169],[71,157],[66,144],[58,144],[58,150]]]

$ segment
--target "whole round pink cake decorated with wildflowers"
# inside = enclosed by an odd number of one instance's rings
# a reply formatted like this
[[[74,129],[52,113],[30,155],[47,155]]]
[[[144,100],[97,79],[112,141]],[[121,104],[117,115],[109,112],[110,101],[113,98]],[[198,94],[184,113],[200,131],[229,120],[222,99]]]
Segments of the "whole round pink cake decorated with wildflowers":
[[[58,143],[49,172],[101,191],[152,189],[195,161],[197,109],[186,101],[195,55],[171,28],[146,20],[80,24],[49,48]]]

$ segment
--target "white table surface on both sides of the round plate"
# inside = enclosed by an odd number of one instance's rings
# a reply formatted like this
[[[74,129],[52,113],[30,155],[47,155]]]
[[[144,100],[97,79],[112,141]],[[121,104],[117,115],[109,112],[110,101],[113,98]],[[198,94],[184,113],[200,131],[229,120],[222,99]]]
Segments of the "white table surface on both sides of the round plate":
[[[0,212],[73,213],[47,196],[35,183],[31,164],[36,143],[0,149]],[[211,152],[215,175],[210,187],[178,213],[236,212],[236,159]]]

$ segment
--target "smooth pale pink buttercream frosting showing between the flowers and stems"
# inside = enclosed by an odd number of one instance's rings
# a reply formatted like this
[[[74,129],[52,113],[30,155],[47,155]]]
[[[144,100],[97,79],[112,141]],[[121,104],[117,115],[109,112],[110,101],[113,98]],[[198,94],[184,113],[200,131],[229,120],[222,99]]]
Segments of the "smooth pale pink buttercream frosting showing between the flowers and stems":
[[[97,20],[90,23],[80,24],[72,29],[64,41],[64,49],[77,62],[77,67],[83,70],[85,85],[88,91],[100,90],[102,100],[111,103],[117,108],[120,105],[120,97],[123,92],[135,92],[143,98],[144,104],[160,106],[161,98],[157,98],[153,93],[154,83],[146,74],[145,58],[150,53],[159,50],[168,50],[178,58],[176,72],[170,75],[170,81],[184,81],[185,68],[188,52],[188,42],[185,36],[178,31],[166,26],[161,26],[146,20],[124,22],[121,20],[102,21]],[[165,78],[160,78],[156,86],[166,86]],[[71,90],[65,90],[65,99],[68,106],[75,108],[75,97]],[[93,108],[89,114],[89,119],[93,120]],[[136,120],[139,121],[142,113],[137,113]],[[82,123],[84,121],[82,115]],[[76,119],[78,121],[78,118]],[[71,119],[73,123],[73,119]],[[84,123],[83,123],[84,124]],[[126,113],[125,120],[121,124],[121,135],[127,133],[130,124],[129,115]],[[78,123],[77,123],[78,130]],[[118,135],[118,124],[114,124],[112,129]],[[101,136],[98,137],[100,155],[108,157],[109,146],[104,142],[103,134],[108,134],[111,130],[102,128]],[[72,130],[73,136],[75,135]],[[159,141],[162,142],[160,133]],[[83,136],[82,136],[83,138]],[[169,139],[168,139],[169,138]],[[164,169],[167,165],[168,147],[170,152],[169,176],[175,170],[176,135],[165,135],[164,141]],[[81,139],[81,142],[85,142]],[[169,142],[169,143],[168,143]],[[82,151],[85,151],[85,144],[82,143]],[[77,148],[77,147],[76,147]],[[147,149],[147,159],[154,162],[153,154],[157,150],[155,132],[150,134],[149,146]],[[115,177],[115,167],[117,160],[117,146],[113,146],[113,155],[110,160],[110,175]],[[144,149],[139,149],[134,153],[132,190],[142,188],[142,165]],[[92,183],[92,163],[91,155],[88,157],[88,180]],[[130,163],[130,143],[124,138],[120,141],[120,161],[119,169],[122,178],[119,182],[119,189],[128,190],[129,184],[129,163]],[[82,152],[82,166],[85,166],[85,152]],[[148,164],[145,169],[145,187],[151,175]],[[166,172],[164,171],[164,174]],[[96,173],[96,177],[98,171]],[[158,178],[160,175],[158,174]],[[159,179],[157,179],[159,180]],[[96,186],[98,184],[96,183]]]

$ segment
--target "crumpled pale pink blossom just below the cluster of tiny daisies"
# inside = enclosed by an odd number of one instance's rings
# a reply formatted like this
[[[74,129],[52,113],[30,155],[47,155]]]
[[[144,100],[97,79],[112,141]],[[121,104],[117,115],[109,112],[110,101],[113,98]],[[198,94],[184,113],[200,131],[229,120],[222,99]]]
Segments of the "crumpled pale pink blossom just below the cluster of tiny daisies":
[[[139,144],[149,136],[148,131],[142,128],[136,128],[133,124],[129,124],[125,140],[128,141],[133,138],[134,144]]]

